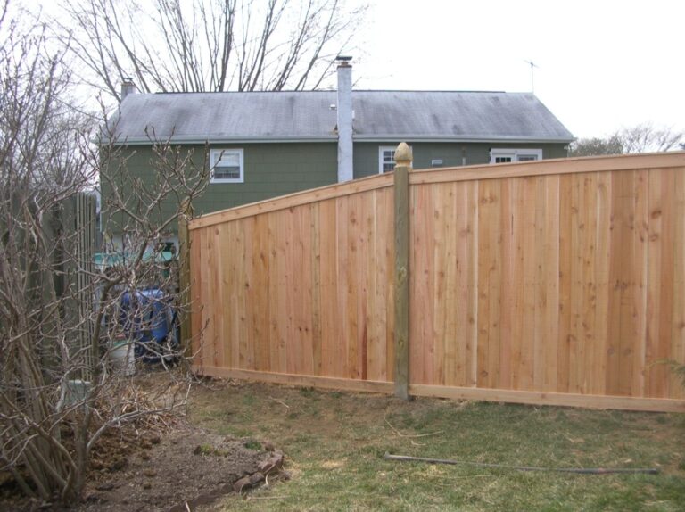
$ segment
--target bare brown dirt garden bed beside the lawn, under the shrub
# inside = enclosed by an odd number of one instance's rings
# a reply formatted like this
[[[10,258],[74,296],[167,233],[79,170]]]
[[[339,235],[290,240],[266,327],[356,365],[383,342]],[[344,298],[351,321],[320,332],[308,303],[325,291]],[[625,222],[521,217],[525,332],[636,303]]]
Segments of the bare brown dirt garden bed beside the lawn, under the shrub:
[[[274,447],[252,439],[208,434],[187,424],[165,434],[116,431],[95,450],[85,501],[73,512],[195,510],[234,491],[234,483],[264,470]],[[136,434],[139,434],[136,436]],[[277,450],[276,450],[277,453]],[[277,479],[278,475],[268,476]],[[252,478],[254,484],[264,480]],[[249,487],[247,485],[246,487]],[[243,491],[245,488],[243,488]],[[187,508],[186,508],[187,504]],[[0,496],[0,509],[62,511],[36,500]]]

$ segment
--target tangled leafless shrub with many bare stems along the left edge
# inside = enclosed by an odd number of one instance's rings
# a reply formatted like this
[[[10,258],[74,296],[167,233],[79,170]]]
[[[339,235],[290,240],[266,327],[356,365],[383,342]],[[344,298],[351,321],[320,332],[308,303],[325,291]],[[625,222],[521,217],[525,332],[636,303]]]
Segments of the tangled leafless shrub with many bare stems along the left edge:
[[[177,302],[173,271],[158,242],[183,200],[202,193],[204,157],[151,141],[151,179],[127,169],[111,124],[84,120],[69,103],[68,51],[54,51],[37,23],[7,19],[0,4],[0,471],[43,500],[77,500],[88,456],[112,426],[182,402],[171,392],[142,394],[127,365],[112,364],[116,342],[134,354],[177,358],[172,336],[144,343]],[[94,127],[94,128],[88,128]],[[99,144],[94,145],[94,137]],[[73,205],[107,183],[104,222],[117,222],[128,245],[101,267],[84,250],[87,224]],[[174,209],[162,208],[172,202]],[[116,219],[116,220],[115,220]],[[162,293],[146,292],[155,285]],[[158,308],[159,309],[159,308]],[[165,311],[169,312],[169,308]],[[168,388],[164,388],[168,389]]]

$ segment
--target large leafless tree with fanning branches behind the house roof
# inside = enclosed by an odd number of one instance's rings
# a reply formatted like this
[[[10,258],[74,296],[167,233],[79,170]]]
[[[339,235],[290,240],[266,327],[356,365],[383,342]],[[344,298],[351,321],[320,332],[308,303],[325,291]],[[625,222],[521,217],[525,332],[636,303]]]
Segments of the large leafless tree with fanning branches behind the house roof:
[[[365,8],[344,0],[70,0],[69,41],[87,81],[143,92],[315,89]]]

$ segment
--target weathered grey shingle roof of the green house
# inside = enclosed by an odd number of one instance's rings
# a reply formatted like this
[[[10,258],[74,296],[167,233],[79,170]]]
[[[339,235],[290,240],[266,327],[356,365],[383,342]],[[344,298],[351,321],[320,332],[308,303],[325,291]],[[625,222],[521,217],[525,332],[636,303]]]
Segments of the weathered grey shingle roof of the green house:
[[[335,91],[133,94],[112,122],[128,144],[334,141],[335,103]],[[355,90],[352,108],[356,141],[574,140],[530,93]]]

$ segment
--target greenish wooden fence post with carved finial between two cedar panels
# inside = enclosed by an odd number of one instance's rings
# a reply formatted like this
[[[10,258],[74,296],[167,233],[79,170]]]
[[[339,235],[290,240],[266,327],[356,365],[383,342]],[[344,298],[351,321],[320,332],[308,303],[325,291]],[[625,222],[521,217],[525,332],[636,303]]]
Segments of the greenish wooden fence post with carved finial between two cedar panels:
[[[409,400],[409,169],[411,148],[395,150],[395,396]]]

